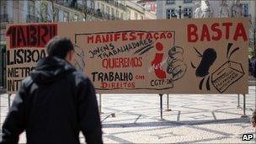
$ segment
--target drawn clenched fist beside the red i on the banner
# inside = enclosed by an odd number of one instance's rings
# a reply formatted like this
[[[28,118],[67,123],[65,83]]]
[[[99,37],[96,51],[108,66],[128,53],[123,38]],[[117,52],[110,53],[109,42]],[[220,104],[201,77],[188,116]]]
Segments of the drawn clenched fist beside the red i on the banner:
[[[173,75],[173,81],[176,81],[179,78],[183,77],[184,73],[187,70],[187,66],[184,63],[183,53],[184,50],[180,46],[173,46],[168,51],[167,72],[168,74]]]

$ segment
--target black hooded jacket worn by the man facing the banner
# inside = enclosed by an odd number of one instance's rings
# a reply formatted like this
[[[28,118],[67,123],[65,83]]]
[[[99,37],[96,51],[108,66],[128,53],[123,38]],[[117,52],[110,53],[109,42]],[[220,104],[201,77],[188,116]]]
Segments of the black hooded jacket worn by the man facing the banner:
[[[99,109],[93,84],[67,61],[45,57],[26,77],[3,123],[2,143],[102,143]],[[0,142],[1,143],[1,142]]]

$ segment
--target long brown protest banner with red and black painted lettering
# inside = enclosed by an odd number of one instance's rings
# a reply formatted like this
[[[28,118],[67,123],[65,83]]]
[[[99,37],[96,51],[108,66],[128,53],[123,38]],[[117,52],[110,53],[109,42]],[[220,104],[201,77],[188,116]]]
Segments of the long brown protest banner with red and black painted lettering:
[[[9,24],[8,93],[55,35],[97,93],[248,93],[248,19]]]

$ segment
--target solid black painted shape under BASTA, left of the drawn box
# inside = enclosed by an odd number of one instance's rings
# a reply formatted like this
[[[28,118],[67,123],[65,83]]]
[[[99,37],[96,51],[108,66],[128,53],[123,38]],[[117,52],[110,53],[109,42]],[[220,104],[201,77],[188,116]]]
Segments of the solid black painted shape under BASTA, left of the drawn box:
[[[194,49],[195,49],[195,47],[194,47]],[[200,61],[200,64],[198,67],[195,67],[195,65],[191,61],[191,66],[193,68],[196,68],[196,70],[195,70],[196,77],[203,77],[203,79],[201,79],[200,84],[199,84],[199,88],[200,88],[200,90],[202,90],[203,84],[205,81],[205,77],[209,74],[209,69],[210,69],[211,65],[216,61],[217,54],[213,48],[207,48],[204,51],[203,55],[196,49],[195,49],[195,51],[197,52],[198,56],[201,57],[201,61]],[[207,90],[211,90],[210,78],[211,78],[211,76],[207,77],[207,82],[206,82]]]

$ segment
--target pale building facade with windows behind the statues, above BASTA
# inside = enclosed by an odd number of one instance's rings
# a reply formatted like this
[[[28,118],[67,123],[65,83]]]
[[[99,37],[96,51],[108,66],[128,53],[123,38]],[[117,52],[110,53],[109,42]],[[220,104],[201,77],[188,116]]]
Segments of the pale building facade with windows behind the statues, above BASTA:
[[[238,3],[241,8],[241,17],[248,18],[250,38],[250,49],[256,51],[256,1],[254,0],[163,0],[157,1],[157,19],[183,19],[183,18],[204,18],[200,14],[198,17],[196,9],[204,7],[211,11],[211,18],[219,18],[223,7],[226,8],[226,17],[232,17],[232,7]],[[224,3],[224,4],[223,4]],[[224,5],[224,6],[223,6]],[[222,7],[222,8],[221,8]]]

